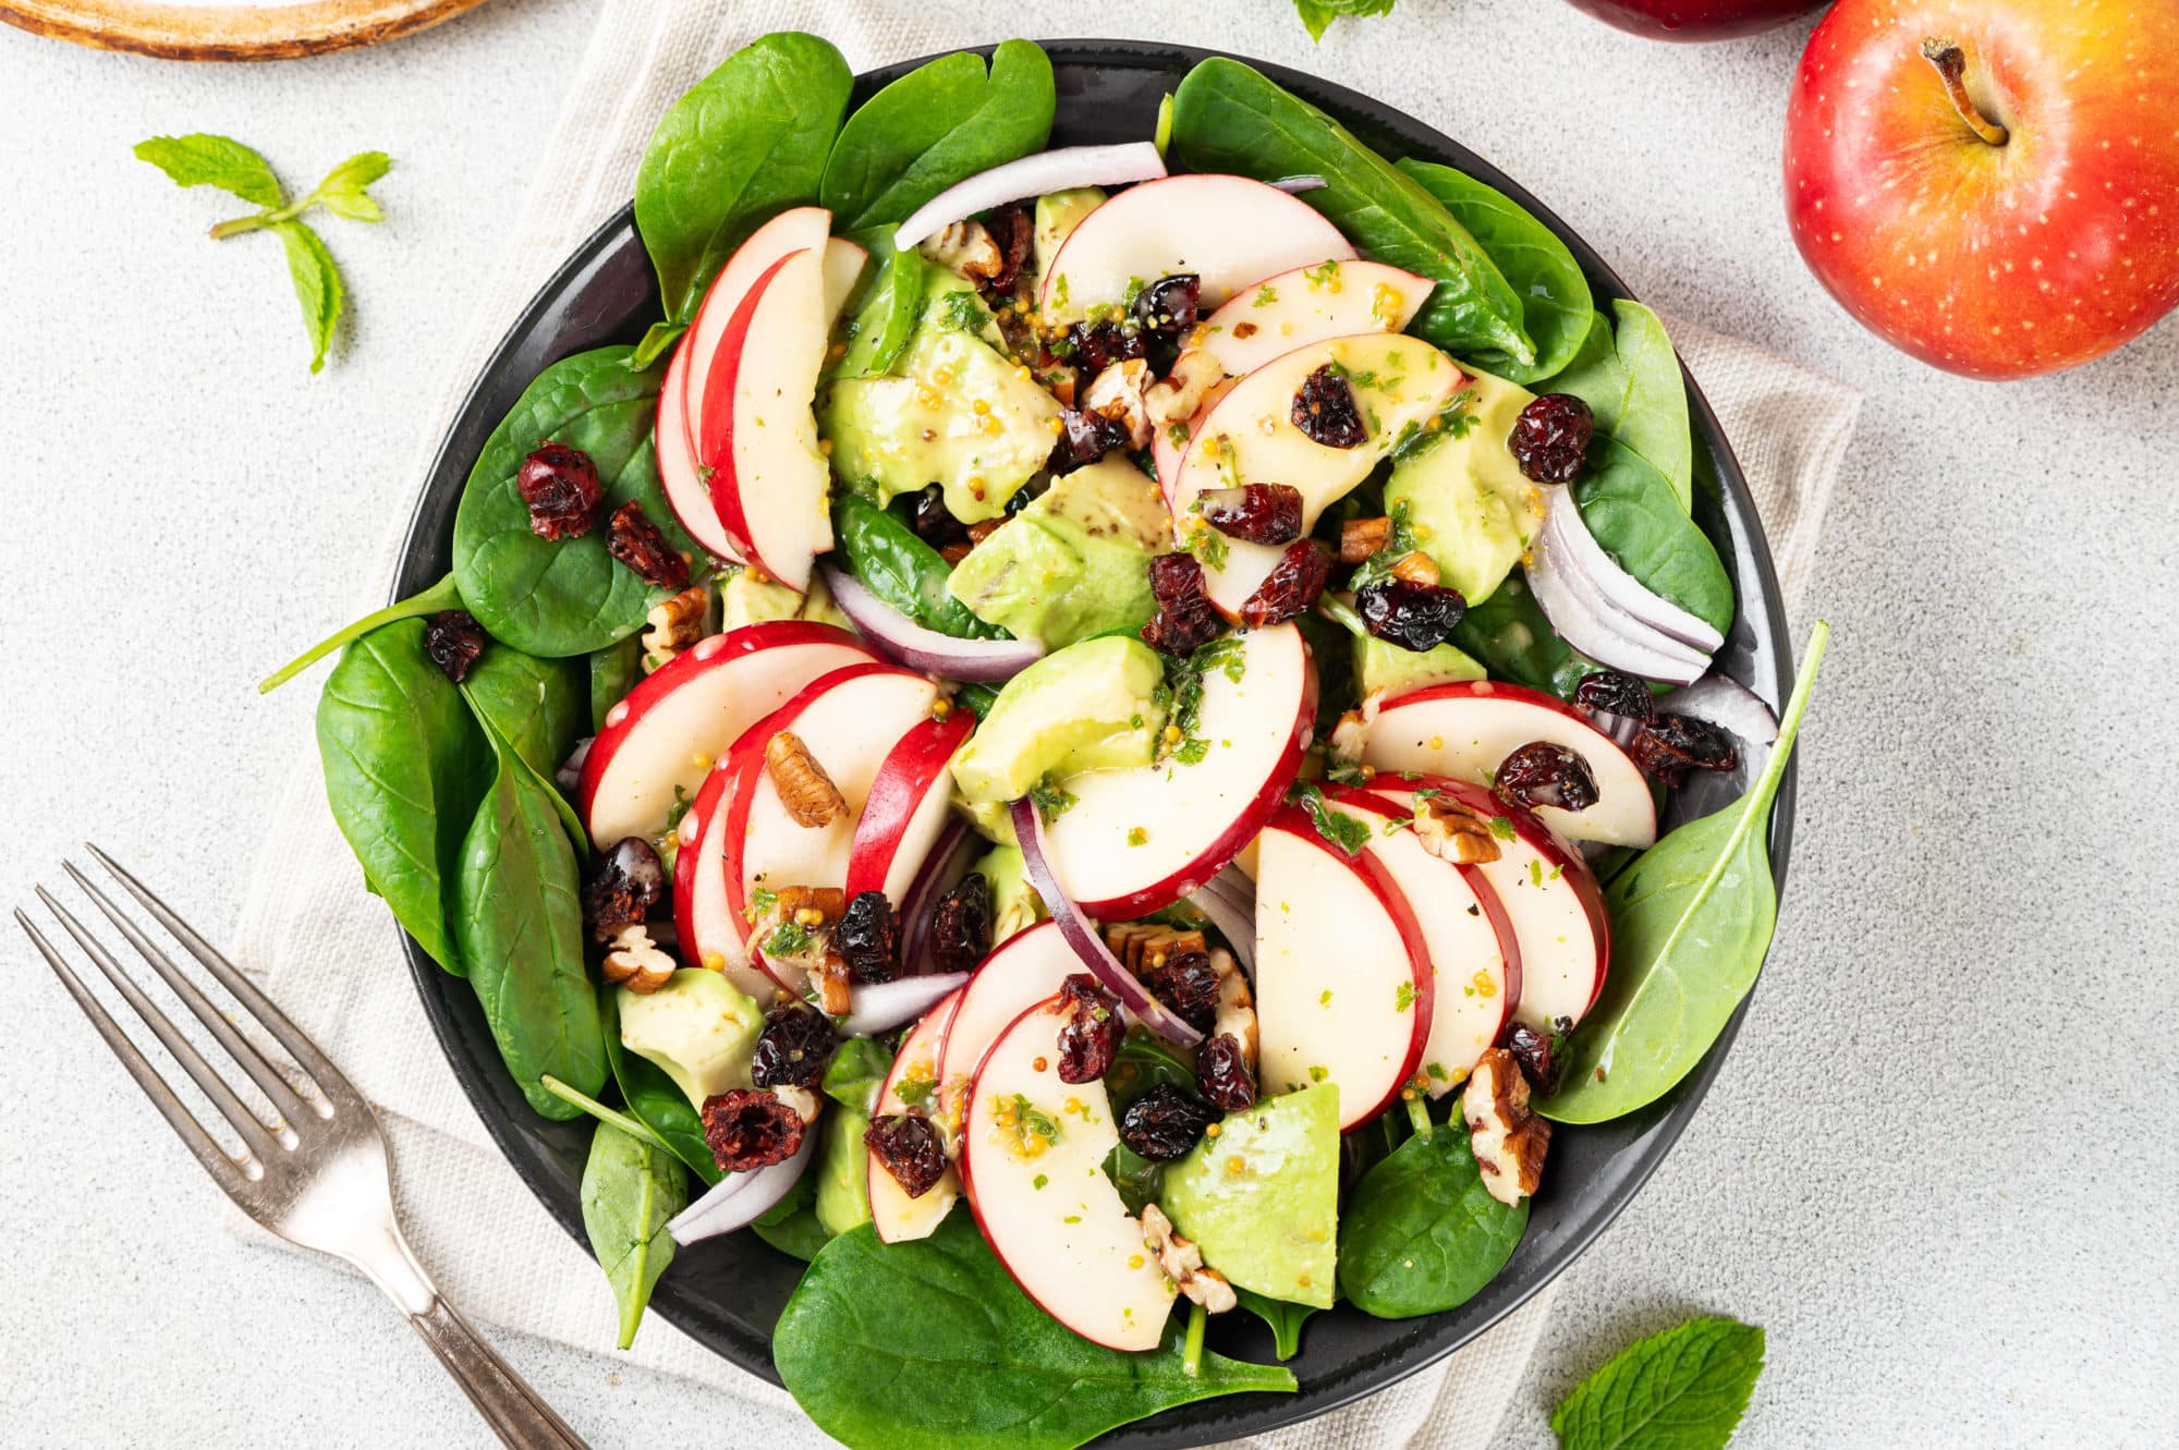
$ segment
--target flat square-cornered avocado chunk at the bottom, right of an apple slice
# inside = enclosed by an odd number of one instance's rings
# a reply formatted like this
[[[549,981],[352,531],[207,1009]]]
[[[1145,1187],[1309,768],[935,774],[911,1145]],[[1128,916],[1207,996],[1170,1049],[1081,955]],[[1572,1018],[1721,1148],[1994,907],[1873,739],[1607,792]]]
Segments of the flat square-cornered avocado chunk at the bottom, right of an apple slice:
[[[1340,1084],[1320,1082],[1229,1113],[1216,1139],[1166,1169],[1159,1206],[1235,1289],[1331,1308],[1340,1263]]]

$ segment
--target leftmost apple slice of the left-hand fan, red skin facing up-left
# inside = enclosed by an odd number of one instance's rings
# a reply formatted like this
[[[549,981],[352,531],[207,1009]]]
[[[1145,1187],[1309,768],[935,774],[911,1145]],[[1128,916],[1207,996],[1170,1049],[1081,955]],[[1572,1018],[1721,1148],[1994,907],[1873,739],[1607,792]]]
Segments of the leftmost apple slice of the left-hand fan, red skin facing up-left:
[[[876,655],[832,625],[743,625],[667,660],[606,712],[575,786],[591,840],[656,836],[675,799],[704,784],[710,762],[802,686]]]

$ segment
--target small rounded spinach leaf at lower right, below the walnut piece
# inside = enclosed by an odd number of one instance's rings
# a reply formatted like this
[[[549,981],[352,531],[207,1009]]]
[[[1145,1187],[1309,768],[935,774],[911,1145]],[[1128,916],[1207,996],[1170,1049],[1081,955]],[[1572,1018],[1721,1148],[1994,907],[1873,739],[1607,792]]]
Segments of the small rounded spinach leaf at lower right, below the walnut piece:
[[[1466,1304],[1527,1232],[1527,1200],[1490,1197],[1458,1126],[1416,1134],[1362,1176],[1340,1213],[1340,1291],[1379,1319]]]

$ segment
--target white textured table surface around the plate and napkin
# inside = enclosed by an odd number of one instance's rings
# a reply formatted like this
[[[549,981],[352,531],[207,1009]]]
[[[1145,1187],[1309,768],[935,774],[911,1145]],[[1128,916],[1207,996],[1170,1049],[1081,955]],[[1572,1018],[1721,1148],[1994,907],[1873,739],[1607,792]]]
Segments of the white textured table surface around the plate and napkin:
[[[1281,0],[1255,35],[1170,9],[1157,37],[1375,89],[1521,176],[1660,309],[1867,392],[1806,601],[1837,638],[1778,949],[1693,1130],[1569,1271],[1501,1443],[1551,1443],[1575,1378],[1711,1311],[1769,1330],[1748,1446],[2166,1446],[2179,324],[2003,390],[1861,333],[1778,207],[1800,30],[1667,48],[1549,0],[1403,0],[1312,52]],[[1028,2],[1015,28],[1094,20]],[[582,0],[497,0],[264,67],[0,30],[0,899],[94,834],[231,921],[314,701],[251,684],[377,603],[434,344],[586,30]],[[327,226],[355,324],[322,377],[277,248],[205,242],[216,202],[131,159],[181,131],[233,133],[301,185],[357,148],[399,159],[386,226]],[[373,1289],[222,1234],[13,932],[0,962],[0,1441],[484,1443]],[[501,1341],[601,1450],[710,1424],[684,1383]]]

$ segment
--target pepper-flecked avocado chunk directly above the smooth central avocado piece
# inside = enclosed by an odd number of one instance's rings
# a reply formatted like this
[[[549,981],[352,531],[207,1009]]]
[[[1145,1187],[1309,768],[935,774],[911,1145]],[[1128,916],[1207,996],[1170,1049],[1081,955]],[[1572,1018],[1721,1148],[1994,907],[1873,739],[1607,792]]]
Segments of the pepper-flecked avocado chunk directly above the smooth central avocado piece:
[[[946,590],[970,612],[1050,649],[1142,629],[1151,557],[1172,546],[1157,483],[1124,457],[1052,479],[1044,494],[967,551]]]

